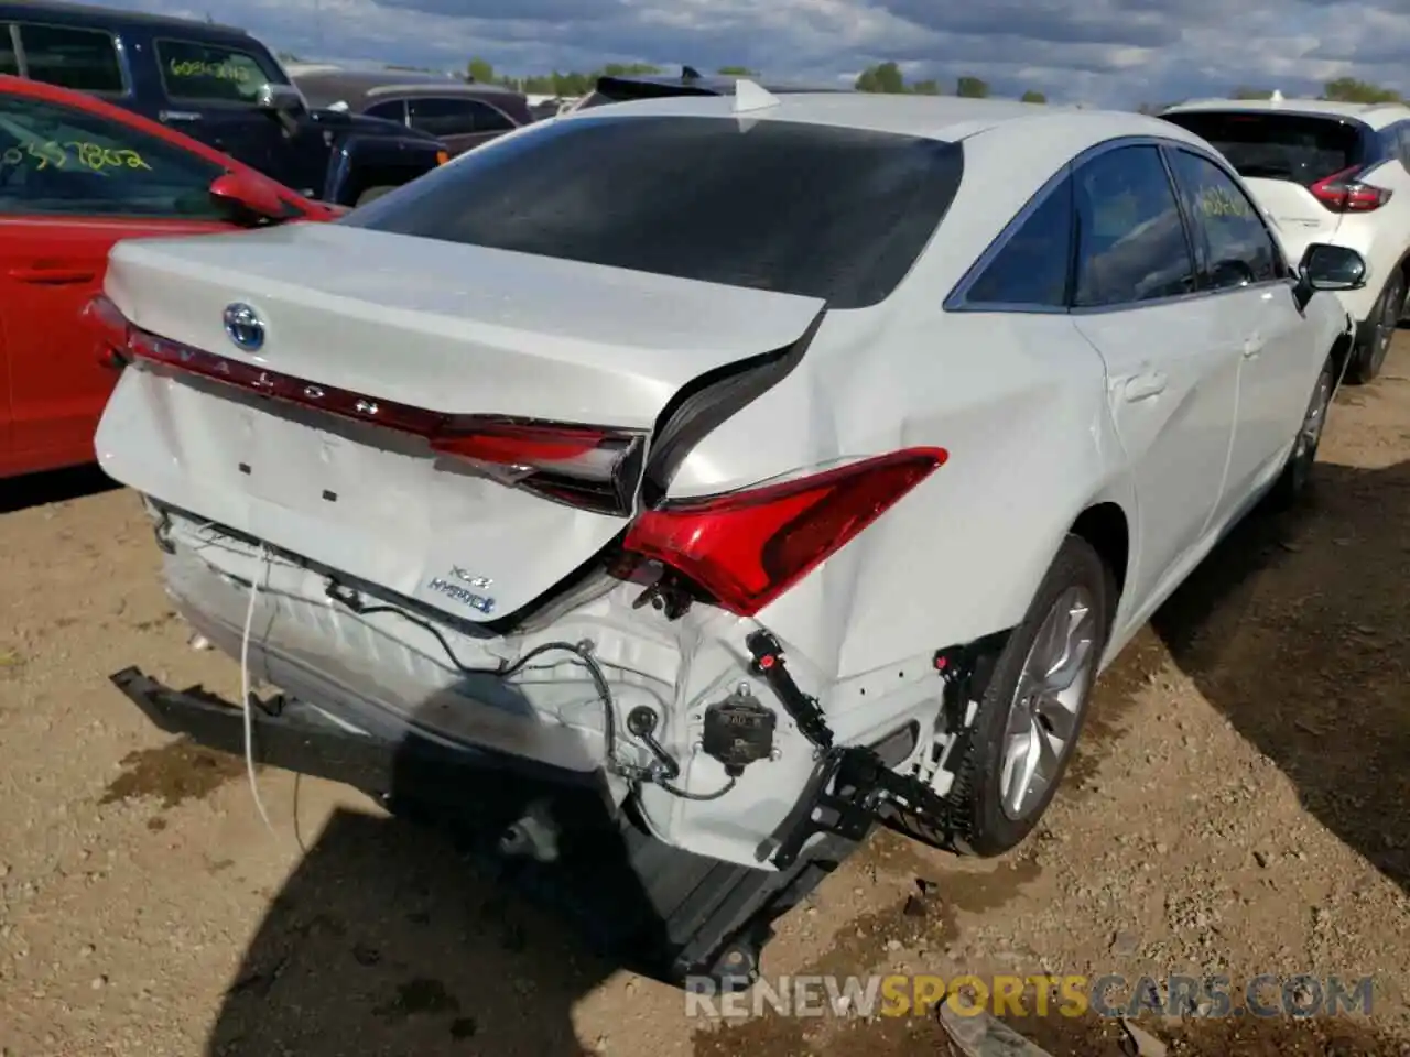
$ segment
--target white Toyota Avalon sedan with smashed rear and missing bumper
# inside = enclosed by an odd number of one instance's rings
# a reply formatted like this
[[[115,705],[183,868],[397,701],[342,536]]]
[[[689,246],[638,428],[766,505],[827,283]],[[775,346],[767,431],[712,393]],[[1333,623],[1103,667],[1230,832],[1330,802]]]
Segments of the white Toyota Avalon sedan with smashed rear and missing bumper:
[[[123,242],[102,465],[276,693],[113,678],[747,975],[877,820],[1024,840],[1101,665],[1303,488],[1363,268],[1155,118],[749,85]]]

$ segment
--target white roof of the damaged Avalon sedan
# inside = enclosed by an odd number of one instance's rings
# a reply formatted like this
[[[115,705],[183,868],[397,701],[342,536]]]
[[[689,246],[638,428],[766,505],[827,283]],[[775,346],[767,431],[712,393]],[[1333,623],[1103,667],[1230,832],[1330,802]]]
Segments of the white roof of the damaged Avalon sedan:
[[[666,96],[629,100],[578,110],[563,120],[582,121],[595,116],[701,116],[735,117],[733,97]],[[860,128],[955,142],[980,132],[1029,135],[1042,127],[1043,142],[1055,154],[1077,154],[1105,140],[1155,135],[1207,144],[1170,121],[1121,110],[1019,103],[1007,99],[962,99],[959,96],[900,96],[867,92],[798,93],[778,97],[777,106],[737,114],[747,120],[802,121],[808,124]],[[1070,155],[1069,155],[1070,156]]]

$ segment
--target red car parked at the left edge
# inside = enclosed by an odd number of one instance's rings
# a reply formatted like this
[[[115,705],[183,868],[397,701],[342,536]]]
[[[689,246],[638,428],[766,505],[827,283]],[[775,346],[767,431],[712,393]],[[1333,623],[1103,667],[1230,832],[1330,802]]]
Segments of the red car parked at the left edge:
[[[341,211],[92,96],[0,76],[0,478],[94,459],[117,375],[83,309],[114,242]]]

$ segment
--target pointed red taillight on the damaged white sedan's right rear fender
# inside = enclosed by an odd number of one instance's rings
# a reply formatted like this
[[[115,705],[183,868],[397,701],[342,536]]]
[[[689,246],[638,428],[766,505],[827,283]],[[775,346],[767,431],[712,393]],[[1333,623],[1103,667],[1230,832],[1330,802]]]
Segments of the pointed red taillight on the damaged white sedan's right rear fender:
[[[778,485],[668,503],[637,517],[623,547],[753,616],[919,485],[948,454],[908,448]]]

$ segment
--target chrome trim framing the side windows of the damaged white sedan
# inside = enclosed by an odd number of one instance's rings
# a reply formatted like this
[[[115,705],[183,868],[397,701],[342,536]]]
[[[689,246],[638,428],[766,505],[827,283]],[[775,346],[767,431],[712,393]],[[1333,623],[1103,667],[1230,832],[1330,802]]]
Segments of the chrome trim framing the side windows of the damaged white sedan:
[[[1069,303],[1066,306],[1026,304],[1026,303],[1008,303],[1008,302],[971,302],[971,300],[969,300],[969,290],[970,290],[970,288],[976,282],[979,282],[979,278],[984,273],[984,271],[988,268],[988,265],[993,264],[994,258],[998,256],[998,254],[1004,249],[1004,247],[1008,245],[1008,241],[1015,234],[1018,234],[1019,228],[1022,228],[1024,224],[1028,223],[1028,220],[1032,217],[1032,214],[1036,213],[1048,202],[1048,199],[1053,193],[1056,193],[1056,190],[1062,186],[1063,180],[1066,180],[1069,176],[1073,176],[1087,162],[1090,162],[1090,161],[1093,161],[1096,158],[1100,158],[1104,154],[1110,154],[1111,151],[1120,151],[1120,149],[1124,149],[1127,147],[1155,147],[1156,148],[1156,151],[1159,154],[1159,158],[1160,158],[1160,163],[1165,166],[1165,171],[1166,171],[1166,179],[1170,180],[1170,193],[1175,196],[1175,199],[1176,199],[1176,207],[1180,210],[1180,218],[1182,218],[1182,223],[1184,225],[1186,244],[1190,247],[1191,259],[1194,259],[1194,245],[1193,245],[1194,231],[1191,228],[1190,218],[1184,213],[1184,204],[1180,202],[1180,194],[1176,190],[1177,185],[1175,182],[1175,175],[1170,171],[1170,162],[1166,158],[1166,152],[1170,151],[1170,149],[1182,149],[1182,151],[1187,151],[1187,152],[1190,152],[1190,154],[1193,154],[1193,155],[1196,155],[1198,158],[1203,158],[1203,159],[1208,161],[1215,168],[1218,168],[1224,175],[1230,176],[1234,180],[1235,186],[1239,187],[1239,190],[1245,196],[1248,196],[1248,192],[1244,189],[1242,180],[1239,180],[1238,175],[1235,175],[1230,169],[1230,166],[1225,165],[1217,155],[1211,154],[1210,151],[1206,151],[1204,148],[1198,147],[1197,144],[1191,144],[1191,142],[1184,141],[1184,140],[1173,140],[1173,138],[1167,138],[1167,137],[1160,137],[1160,135],[1122,135],[1122,137],[1117,137],[1114,140],[1104,140],[1100,144],[1094,144],[1093,147],[1089,147],[1089,148],[1083,149],[1080,154],[1074,155],[1073,158],[1069,158],[1056,173],[1053,173],[1048,180],[1043,182],[1043,185],[1036,192],[1034,192],[1032,197],[1029,197],[1028,202],[1024,203],[1022,209],[1019,209],[1018,213],[1015,213],[1012,216],[1012,218],[1003,227],[1003,230],[994,237],[994,240],[984,248],[984,251],[964,271],[964,275],[960,276],[959,282],[955,283],[955,286],[950,290],[950,293],[940,303],[940,309],[943,311],[1003,311],[1003,313],[1018,313],[1018,314],[1032,314],[1032,316],[1077,316],[1077,314],[1084,314],[1086,316],[1086,314],[1107,313],[1107,311],[1129,311],[1129,310],[1136,309],[1136,307],[1139,307],[1139,309],[1156,307],[1156,306],[1162,306],[1162,304],[1175,304],[1175,303],[1179,303],[1179,302],[1194,300],[1197,297],[1218,297],[1218,296],[1235,293],[1235,292],[1239,292],[1239,290],[1252,290],[1252,289],[1262,289],[1262,288],[1269,288],[1269,286],[1286,286],[1286,285],[1289,285],[1290,279],[1285,278],[1285,279],[1268,280],[1268,282],[1261,282],[1261,283],[1249,283],[1246,286],[1225,286],[1225,288],[1217,289],[1217,290],[1214,290],[1214,289],[1206,289],[1206,288],[1201,286],[1201,289],[1196,289],[1196,290],[1191,290],[1189,293],[1172,295],[1169,297],[1152,297],[1149,300],[1122,302],[1120,304],[1094,304],[1094,306],[1089,306],[1089,307],[1076,307],[1070,302],[1072,302],[1072,285],[1073,285],[1072,280],[1073,280],[1073,273],[1074,273],[1074,269],[1076,269],[1076,251],[1077,251],[1077,245],[1076,244],[1077,244],[1077,240],[1072,238],[1070,240],[1070,245],[1067,247],[1067,255],[1069,255],[1069,261],[1067,261],[1067,289],[1069,289],[1067,302]],[[1282,244],[1276,238],[1273,238],[1272,231],[1268,227],[1268,221],[1263,217],[1262,210],[1258,209],[1258,203],[1256,202],[1253,203],[1253,206],[1255,206],[1255,213],[1256,213],[1256,216],[1259,218],[1259,223],[1263,225],[1265,233],[1269,234],[1269,237],[1273,240],[1273,247],[1279,251],[1279,254],[1282,254]],[[1283,261],[1285,261],[1285,264],[1287,264],[1286,256],[1283,258]],[[1198,265],[1197,259],[1194,262],[1196,262],[1196,265]],[[1294,272],[1294,269],[1292,266],[1289,266],[1289,273],[1293,273],[1293,272]],[[1203,283],[1203,276],[1200,276],[1200,279],[1201,279],[1201,283]]]

